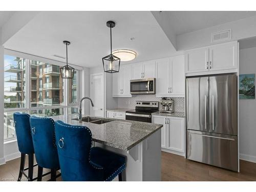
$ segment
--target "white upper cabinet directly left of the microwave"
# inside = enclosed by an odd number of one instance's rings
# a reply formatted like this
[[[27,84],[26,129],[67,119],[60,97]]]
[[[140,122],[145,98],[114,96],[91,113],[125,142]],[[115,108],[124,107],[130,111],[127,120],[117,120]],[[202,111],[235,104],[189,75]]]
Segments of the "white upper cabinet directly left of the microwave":
[[[132,97],[130,94],[131,65],[120,66],[119,72],[113,74],[113,97]]]

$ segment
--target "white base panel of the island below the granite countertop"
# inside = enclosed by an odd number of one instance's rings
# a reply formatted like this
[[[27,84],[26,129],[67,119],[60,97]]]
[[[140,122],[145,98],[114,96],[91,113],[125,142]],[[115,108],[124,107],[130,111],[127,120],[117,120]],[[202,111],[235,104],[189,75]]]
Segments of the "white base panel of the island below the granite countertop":
[[[122,174],[123,181],[161,181],[161,129],[129,151],[97,142],[94,143],[94,146],[126,157],[126,167]]]

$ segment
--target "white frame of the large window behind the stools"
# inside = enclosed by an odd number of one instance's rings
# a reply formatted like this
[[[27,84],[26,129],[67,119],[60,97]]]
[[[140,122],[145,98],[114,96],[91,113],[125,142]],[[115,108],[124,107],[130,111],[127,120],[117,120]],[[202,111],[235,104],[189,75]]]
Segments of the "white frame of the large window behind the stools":
[[[76,103],[69,103],[69,97],[70,97],[70,95],[69,95],[69,81],[72,80],[72,79],[64,79],[64,81],[63,81],[63,98],[64,98],[63,105],[32,107],[31,106],[31,101],[30,101],[30,98],[31,98],[30,77],[31,77],[32,68],[31,68],[31,63],[28,62],[28,60],[35,60],[35,61],[39,61],[39,62],[47,62],[47,63],[51,63],[52,65],[61,66],[61,67],[63,65],[66,65],[66,63],[61,62],[61,61],[57,61],[57,60],[53,60],[53,59],[39,57],[39,56],[36,56],[36,55],[31,55],[31,54],[27,54],[27,53],[18,52],[18,51],[13,51],[13,50],[9,50],[9,49],[5,49],[4,55],[11,55],[11,56],[14,56],[14,57],[20,57],[20,58],[25,59],[25,61],[26,61],[26,71],[25,71],[25,78],[26,78],[26,80],[25,80],[25,86],[26,86],[25,100],[26,100],[26,105],[25,105],[24,108],[9,108],[9,109],[4,108],[4,113],[25,111],[26,113],[30,114],[30,112],[34,111],[34,110],[63,109],[64,115],[67,115],[69,108],[75,108],[75,107],[79,106],[79,100],[81,98],[81,71],[83,70],[82,67],[69,64],[75,70],[77,70],[77,102]],[[42,82],[42,83],[44,83],[44,82]],[[32,86],[32,83],[31,83],[31,86]],[[16,141],[16,137],[11,137],[11,138],[4,139],[4,142],[11,142],[12,140]]]

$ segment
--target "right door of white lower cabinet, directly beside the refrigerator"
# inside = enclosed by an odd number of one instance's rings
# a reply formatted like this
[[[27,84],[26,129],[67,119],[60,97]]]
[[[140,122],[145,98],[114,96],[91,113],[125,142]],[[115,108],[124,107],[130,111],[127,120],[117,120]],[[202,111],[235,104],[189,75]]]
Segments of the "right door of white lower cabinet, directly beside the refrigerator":
[[[184,153],[184,118],[167,118],[167,148]]]

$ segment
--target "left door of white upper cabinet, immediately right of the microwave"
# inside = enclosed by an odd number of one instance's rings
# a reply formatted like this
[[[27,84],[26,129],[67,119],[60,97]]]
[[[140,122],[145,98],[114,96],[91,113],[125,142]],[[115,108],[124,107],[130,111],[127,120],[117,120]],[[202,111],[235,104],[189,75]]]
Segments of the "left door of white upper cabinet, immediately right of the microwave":
[[[156,96],[169,95],[169,76],[170,62],[169,59],[161,59],[156,61],[157,78],[156,78]]]

